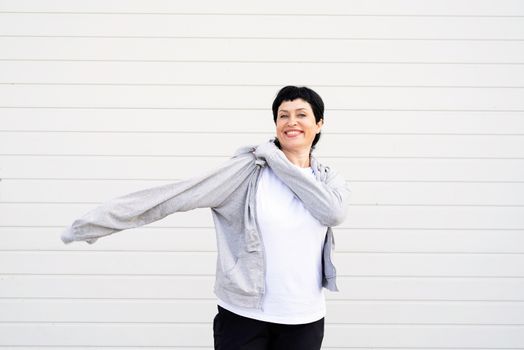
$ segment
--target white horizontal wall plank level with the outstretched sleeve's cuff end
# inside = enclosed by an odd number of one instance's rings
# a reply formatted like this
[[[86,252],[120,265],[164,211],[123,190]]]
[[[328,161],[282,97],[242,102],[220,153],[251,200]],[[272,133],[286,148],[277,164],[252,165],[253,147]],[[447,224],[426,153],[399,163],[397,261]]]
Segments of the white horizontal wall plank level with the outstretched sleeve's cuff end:
[[[64,245],[60,229],[0,227],[0,250],[216,251],[214,228],[128,230],[96,245]],[[524,253],[524,230],[373,230],[334,228],[337,252]]]

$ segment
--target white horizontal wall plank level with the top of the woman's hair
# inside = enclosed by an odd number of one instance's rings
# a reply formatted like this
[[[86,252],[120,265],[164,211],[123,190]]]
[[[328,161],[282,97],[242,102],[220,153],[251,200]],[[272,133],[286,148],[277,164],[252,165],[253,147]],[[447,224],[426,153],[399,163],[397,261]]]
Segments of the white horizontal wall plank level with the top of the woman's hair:
[[[258,86],[0,85],[5,107],[268,109],[275,90]],[[333,109],[524,110],[524,88],[324,87],[318,90]],[[205,99],[202,96],[206,96]]]

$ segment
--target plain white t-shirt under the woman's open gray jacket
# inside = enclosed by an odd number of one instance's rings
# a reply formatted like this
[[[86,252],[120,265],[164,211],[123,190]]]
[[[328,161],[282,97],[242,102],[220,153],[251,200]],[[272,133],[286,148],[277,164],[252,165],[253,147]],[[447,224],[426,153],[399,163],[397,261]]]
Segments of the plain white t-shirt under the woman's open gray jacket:
[[[299,168],[314,176],[311,168]],[[266,252],[266,293],[262,310],[218,301],[238,315],[282,324],[318,321],[326,314],[322,290],[322,247],[327,227],[269,167],[256,194],[257,220]]]

